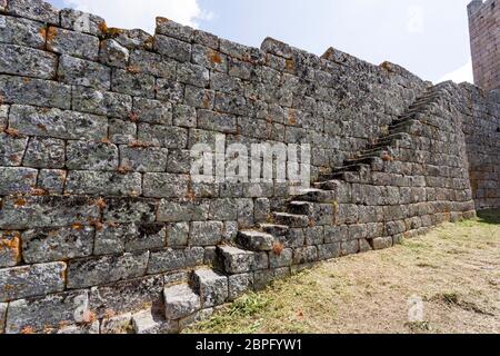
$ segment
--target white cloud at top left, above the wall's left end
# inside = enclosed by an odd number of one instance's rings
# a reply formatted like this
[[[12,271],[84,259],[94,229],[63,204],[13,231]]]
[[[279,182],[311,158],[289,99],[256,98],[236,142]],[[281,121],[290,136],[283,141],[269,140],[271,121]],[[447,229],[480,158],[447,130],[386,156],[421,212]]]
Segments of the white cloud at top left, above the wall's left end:
[[[176,22],[197,27],[198,20],[210,19],[198,0],[63,0],[77,10],[99,14],[110,27],[143,29],[154,32],[156,17],[166,17]]]

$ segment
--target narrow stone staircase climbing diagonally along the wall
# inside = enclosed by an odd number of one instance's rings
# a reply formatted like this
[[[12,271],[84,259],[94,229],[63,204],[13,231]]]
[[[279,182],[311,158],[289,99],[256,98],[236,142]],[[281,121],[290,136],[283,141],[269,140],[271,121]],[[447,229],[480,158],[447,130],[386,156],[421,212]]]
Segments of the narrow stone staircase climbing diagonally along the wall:
[[[209,317],[213,308],[254,289],[250,276],[262,269],[259,256],[279,255],[284,248],[297,247],[290,234],[293,229],[326,222],[334,225],[332,209],[340,181],[347,180],[347,175],[369,172],[377,160],[389,159],[391,149],[406,139],[407,132],[419,123],[432,101],[439,99],[440,90],[440,86],[430,88],[373,145],[347,159],[332,174],[322,176],[320,181],[313,184],[313,188],[297,191],[287,202],[284,211],[273,211],[269,221],[259,224],[254,229],[240,230],[232,246],[218,246],[212,267],[196,269],[188,283],[164,288],[163,310],[149,309],[132,315],[133,332],[177,333]]]

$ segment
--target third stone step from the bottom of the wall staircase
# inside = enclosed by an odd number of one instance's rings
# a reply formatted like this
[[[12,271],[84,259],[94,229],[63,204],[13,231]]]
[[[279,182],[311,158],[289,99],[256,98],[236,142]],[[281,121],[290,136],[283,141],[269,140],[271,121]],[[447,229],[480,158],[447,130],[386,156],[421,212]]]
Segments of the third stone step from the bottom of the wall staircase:
[[[203,308],[220,306],[229,297],[228,277],[213,269],[197,269],[191,276],[192,287],[201,298]]]

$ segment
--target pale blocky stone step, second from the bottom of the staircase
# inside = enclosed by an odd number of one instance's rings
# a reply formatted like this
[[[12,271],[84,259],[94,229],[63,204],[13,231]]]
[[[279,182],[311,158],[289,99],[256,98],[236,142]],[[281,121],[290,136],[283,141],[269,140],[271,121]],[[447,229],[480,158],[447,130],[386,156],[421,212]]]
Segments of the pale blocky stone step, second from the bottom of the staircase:
[[[178,285],[163,289],[164,316],[177,320],[201,309],[200,296],[188,285]]]

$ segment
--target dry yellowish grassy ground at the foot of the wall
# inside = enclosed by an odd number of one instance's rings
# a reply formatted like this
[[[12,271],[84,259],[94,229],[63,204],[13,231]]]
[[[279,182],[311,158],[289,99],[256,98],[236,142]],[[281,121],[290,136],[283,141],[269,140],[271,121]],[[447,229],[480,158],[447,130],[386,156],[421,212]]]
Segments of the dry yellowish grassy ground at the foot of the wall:
[[[184,333],[499,334],[500,210],[321,264]]]

